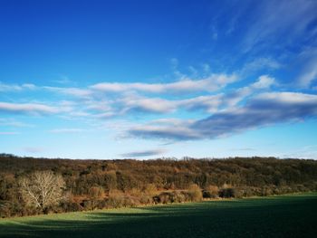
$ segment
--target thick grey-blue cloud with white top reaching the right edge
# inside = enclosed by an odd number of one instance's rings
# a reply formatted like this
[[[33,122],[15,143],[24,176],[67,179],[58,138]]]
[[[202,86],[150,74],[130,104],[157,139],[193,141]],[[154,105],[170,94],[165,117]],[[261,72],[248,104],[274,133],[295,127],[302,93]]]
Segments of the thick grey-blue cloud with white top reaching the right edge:
[[[293,92],[270,92],[255,96],[244,107],[218,112],[197,120],[190,129],[203,138],[217,138],[247,129],[317,116],[317,96]]]

